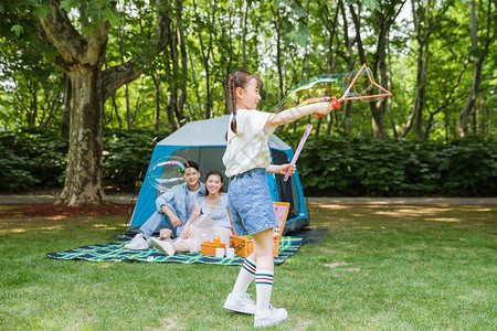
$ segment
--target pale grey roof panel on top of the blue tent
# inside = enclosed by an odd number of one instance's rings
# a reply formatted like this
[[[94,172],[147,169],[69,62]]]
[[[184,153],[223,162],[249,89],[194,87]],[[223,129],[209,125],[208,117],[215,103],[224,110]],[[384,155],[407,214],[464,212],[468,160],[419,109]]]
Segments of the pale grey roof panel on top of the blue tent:
[[[211,119],[191,121],[172,132],[158,145],[168,146],[226,146],[224,136],[228,129],[229,115]],[[288,150],[290,147],[274,134],[269,137],[269,147]]]

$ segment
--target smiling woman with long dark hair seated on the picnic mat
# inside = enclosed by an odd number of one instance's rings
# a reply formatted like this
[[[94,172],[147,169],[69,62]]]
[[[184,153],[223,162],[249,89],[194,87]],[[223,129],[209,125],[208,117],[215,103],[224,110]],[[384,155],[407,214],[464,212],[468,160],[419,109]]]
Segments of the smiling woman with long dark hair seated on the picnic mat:
[[[203,242],[219,237],[221,244],[230,246],[230,235],[234,234],[233,222],[228,204],[228,194],[223,193],[223,177],[212,170],[205,178],[205,196],[198,197],[198,205],[184,225],[181,235],[171,243],[167,238],[151,238],[154,247],[173,256],[176,252],[199,252]]]

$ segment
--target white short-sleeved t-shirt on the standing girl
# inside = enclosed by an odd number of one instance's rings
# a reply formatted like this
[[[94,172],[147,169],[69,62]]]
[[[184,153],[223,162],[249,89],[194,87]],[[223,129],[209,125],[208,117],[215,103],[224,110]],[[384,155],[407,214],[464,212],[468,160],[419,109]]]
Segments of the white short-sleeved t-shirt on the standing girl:
[[[271,164],[268,138],[276,126],[265,127],[269,116],[269,113],[237,109],[236,135],[231,130],[233,114],[230,116],[228,146],[223,156],[228,177]]]

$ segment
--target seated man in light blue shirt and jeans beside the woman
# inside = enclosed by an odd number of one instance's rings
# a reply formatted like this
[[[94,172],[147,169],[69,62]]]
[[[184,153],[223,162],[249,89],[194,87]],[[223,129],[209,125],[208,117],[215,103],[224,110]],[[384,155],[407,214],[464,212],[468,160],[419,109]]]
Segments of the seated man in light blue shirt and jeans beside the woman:
[[[148,249],[148,241],[157,231],[160,223],[165,220],[167,226],[172,231],[172,237],[177,237],[183,231],[184,224],[193,212],[197,196],[205,195],[205,185],[201,183],[199,164],[188,161],[188,168],[184,169],[187,183],[181,184],[171,191],[168,191],[157,197],[155,212],[147,222],[140,227],[131,242],[124,247],[128,249]]]

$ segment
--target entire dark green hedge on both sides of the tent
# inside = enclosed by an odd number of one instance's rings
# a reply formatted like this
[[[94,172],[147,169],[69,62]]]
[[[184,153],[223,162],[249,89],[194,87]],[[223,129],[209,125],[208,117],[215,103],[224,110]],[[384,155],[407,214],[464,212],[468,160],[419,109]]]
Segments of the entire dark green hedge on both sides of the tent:
[[[145,129],[104,130],[107,190],[135,189],[140,172],[145,175],[157,135]],[[67,142],[54,130],[0,134],[0,192],[62,188],[66,152]],[[305,193],[314,196],[495,195],[497,143],[478,138],[442,145],[311,137],[298,171]]]

